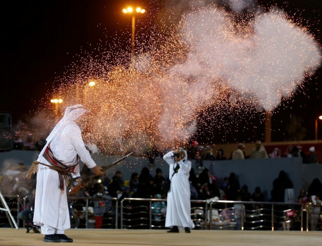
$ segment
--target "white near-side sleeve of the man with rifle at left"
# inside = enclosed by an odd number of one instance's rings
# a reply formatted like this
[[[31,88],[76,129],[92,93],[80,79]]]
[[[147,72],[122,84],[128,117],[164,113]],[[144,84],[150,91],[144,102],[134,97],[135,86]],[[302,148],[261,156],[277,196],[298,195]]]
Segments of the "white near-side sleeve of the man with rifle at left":
[[[81,129],[76,124],[73,125],[72,128],[72,131],[68,131],[68,136],[76,150],[76,153],[89,169],[94,168],[96,163],[92,159],[90,152],[85,147]]]

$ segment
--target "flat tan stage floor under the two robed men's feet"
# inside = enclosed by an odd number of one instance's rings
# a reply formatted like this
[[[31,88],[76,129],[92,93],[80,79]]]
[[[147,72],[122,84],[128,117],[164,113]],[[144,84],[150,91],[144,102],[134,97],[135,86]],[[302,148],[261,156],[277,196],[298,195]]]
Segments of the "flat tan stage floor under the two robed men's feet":
[[[235,231],[192,230],[190,234],[167,233],[166,230],[120,229],[69,229],[65,234],[76,245],[155,245],[155,246],[293,246],[320,245],[322,231]],[[52,245],[43,242],[44,235],[26,233],[26,229],[0,228],[0,245],[38,246]],[[72,245],[60,242],[59,245]]]

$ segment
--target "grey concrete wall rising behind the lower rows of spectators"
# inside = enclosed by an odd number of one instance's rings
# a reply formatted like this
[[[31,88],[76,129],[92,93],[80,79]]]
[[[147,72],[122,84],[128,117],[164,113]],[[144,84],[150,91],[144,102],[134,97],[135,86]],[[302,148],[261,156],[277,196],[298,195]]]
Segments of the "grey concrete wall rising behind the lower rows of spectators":
[[[37,158],[39,152],[12,150],[9,152],[0,152],[0,175],[5,172],[8,163],[23,162],[29,166]],[[120,156],[106,156],[96,154],[93,155],[98,165],[109,165],[117,160]],[[192,167],[196,169],[195,161],[192,160]],[[84,164],[81,164],[84,165]],[[314,178],[322,177],[321,164],[302,164],[301,158],[280,158],[280,159],[246,159],[246,160],[221,160],[221,161],[204,161],[203,166],[217,178],[217,184],[220,186],[224,177],[229,177],[230,173],[235,173],[240,186],[248,185],[251,193],[254,192],[256,186],[260,186],[266,201],[269,200],[273,180],[278,177],[279,172],[284,170],[294,185],[294,196],[297,198],[300,189],[307,190],[308,186]],[[169,175],[169,166],[160,157],[155,159],[155,167],[150,167],[147,158],[140,156],[130,156],[108,172],[112,178],[115,171],[120,170],[123,173],[123,179],[129,180],[131,174],[136,172],[140,174],[143,167],[148,167],[150,174],[155,175],[155,169],[160,168],[165,177]]]

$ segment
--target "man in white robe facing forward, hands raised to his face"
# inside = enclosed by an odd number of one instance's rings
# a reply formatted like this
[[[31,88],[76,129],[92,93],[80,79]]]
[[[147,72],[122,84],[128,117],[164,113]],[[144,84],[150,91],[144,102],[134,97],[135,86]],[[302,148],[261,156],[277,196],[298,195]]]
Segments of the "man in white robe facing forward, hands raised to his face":
[[[167,196],[166,227],[171,228],[168,232],[179,232],[179,229],[184,228],[185,232],[190,233],[190,229],[195,227],[190,216],[191,162],[187,160],[187,152],[183,148],[170,151],[163,158],[169,164],[171,180],[171,188]]]

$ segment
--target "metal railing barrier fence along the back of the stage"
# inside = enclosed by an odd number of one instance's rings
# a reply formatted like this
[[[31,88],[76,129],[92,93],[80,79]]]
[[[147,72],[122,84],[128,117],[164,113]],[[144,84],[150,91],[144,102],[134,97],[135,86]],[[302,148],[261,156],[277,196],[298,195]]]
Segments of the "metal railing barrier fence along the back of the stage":
[[[4,196],[17,224],[31,220],[18,215],[28,209],[29,197]],[[166,229],[166,199],[68,197],[71,228]],[[322,230],[321,204],[191,200],[195,229]],[[0,227],[10,227],[0,211]]]

